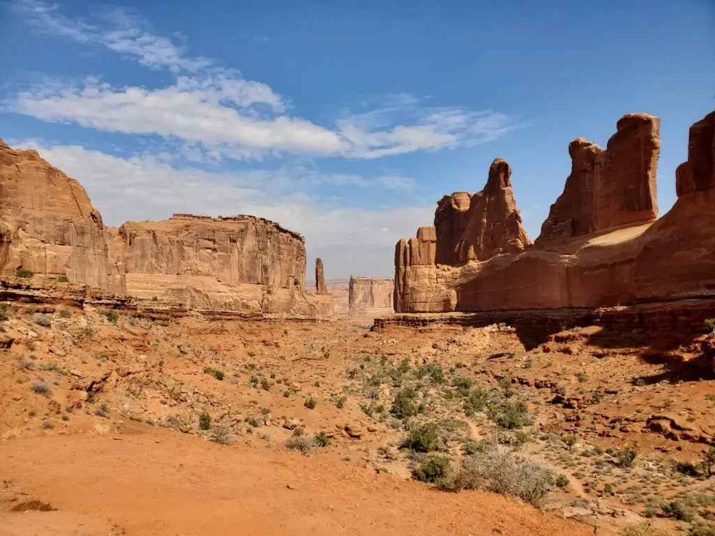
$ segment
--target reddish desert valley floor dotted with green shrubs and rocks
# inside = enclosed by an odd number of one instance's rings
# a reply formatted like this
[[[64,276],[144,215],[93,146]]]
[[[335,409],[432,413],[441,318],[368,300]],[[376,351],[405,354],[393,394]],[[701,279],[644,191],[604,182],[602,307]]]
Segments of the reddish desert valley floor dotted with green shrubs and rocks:
[[[595,326],[525,347],[503,325],[4,317],[1,535],[602,536],[713,517],[700,342],[658,354],[652,334],[612,344]],[[490,449],[551,472],[538,510],[412,478]]]

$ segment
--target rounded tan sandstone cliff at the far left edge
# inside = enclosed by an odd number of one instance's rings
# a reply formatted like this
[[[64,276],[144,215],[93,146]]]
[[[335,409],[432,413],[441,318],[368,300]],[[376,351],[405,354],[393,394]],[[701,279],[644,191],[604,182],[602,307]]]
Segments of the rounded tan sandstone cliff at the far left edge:
[[[107,249],[102,216],[82,185],[36,151],[0,139],[0,272],[21,268],[123,292],[122,266],[109,262]]]

